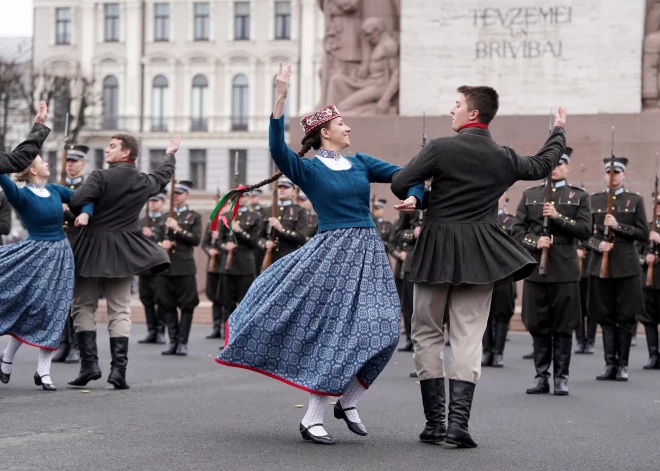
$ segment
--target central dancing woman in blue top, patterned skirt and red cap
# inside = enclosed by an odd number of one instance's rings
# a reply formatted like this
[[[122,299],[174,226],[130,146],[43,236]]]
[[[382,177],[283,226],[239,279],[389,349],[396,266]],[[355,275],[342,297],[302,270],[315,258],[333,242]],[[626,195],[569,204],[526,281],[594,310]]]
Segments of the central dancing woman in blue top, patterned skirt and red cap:
[[[282,70],[280,64],[270,153],[277,168],[309,197],[319,233],[255,280],[229,319],[226,348],[216,361],[309,392],[300,433],[314,443],[333,444],[323,427],[328,396],[341,396],[335,418],[366,435],[357,401],[399,339],[399,298],[369,201],[370,183],[389,183],[400,167],[362,153],[341,155],[351,129],[334,105],[305,116],[303,148],[289,149],[283,114],[290,76],[291,66]],[[312,148],[315,157],[303,159]],[[420,182],[397,209],[412,211],[423,189]]]

